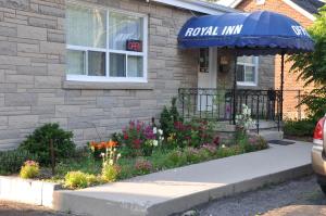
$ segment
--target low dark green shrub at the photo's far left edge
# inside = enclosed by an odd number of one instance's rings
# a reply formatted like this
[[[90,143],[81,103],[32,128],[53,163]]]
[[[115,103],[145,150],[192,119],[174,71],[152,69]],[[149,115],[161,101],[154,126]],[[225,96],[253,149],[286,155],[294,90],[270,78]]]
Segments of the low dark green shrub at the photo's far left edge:
[[[28,160],[37,160],[37,156],[26,150],[0,152],[0,175],[18,173],[24,162]]]

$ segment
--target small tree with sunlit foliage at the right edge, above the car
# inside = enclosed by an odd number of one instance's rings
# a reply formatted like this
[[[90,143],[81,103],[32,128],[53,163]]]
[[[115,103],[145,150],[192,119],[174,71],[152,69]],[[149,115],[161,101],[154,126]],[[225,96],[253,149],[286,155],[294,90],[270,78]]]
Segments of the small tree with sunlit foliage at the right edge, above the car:
[[[308,106],[310,117],[318,118],[326,113],[326,5],[319,9],[308,31],[315,41],[315,50],[290,56],[289,61],[293,62],[290,71],[305,81],[304,86],[315,85],[315,89],[303,97],[302,103]]]

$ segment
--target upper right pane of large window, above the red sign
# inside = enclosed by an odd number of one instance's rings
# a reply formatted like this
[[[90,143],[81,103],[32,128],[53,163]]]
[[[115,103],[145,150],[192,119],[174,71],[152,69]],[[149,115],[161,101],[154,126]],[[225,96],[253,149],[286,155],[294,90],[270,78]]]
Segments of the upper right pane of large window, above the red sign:
[[[111,12],[109,15],[110,49],[126,50],[127,40],[142,40],[142,18]]]

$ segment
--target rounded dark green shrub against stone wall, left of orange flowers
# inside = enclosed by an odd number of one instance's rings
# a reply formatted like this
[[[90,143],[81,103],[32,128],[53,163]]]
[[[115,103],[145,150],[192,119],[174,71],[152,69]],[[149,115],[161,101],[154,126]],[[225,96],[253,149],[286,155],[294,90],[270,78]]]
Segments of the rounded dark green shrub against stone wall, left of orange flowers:
[[[49,165],[50,158],[50,140],[53,140],[53,149],[55,158],[70,157],[75,152],[75,143],[73,142],[73,132],[65,131],[58,124],[46,124],[37,129],[23,141],[20,145],[21,150],[27,150],[38,156],[41,165]]]

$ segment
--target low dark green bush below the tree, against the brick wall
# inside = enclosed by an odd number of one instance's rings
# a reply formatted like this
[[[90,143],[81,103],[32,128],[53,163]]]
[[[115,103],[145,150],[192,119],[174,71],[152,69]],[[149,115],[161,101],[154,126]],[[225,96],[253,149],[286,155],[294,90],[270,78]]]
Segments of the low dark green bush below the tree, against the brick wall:
[[[316,122],[313,119],[286,120],[284,134],[296,137],[313,137]]]

